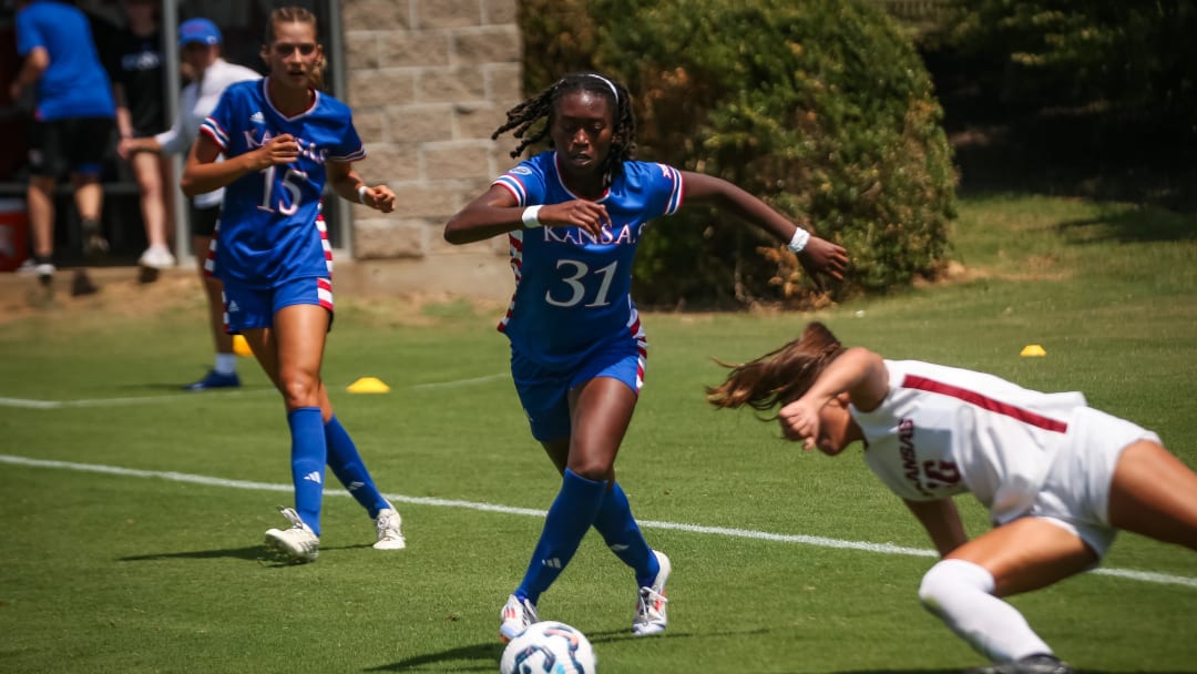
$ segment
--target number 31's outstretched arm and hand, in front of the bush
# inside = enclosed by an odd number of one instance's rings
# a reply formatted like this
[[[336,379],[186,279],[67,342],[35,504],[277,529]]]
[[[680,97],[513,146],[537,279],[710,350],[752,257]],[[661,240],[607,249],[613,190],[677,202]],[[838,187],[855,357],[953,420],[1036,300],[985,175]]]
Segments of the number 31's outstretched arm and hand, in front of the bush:
[[[770,208],[767,204],[735,184],[706,174],[682,171],[686,184],[686,201],[706,202],[755,223],[773,232],[785,243],[795,241],[798,226],[785,215]],[[841,245],[810,235],[806,245],[797,253],[802,268],[814,278],[825,273],[836,280],[843,280],[847,266],[847,251]]]

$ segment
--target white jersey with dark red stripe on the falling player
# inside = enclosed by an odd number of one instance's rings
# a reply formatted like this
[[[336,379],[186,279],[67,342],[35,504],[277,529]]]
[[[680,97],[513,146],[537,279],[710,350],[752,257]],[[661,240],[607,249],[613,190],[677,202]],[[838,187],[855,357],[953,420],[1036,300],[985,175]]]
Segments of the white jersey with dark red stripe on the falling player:
[[[1027,512],[1084,396],[917,360],[885,365],[885,401],[851,408],[881,481],[909,500],[972,492],[996,524]]]

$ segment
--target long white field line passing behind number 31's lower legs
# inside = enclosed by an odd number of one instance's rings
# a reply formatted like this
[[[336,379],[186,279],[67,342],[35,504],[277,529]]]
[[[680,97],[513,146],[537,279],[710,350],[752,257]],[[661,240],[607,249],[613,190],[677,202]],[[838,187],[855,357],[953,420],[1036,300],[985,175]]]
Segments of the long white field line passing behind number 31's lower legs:
[[[97,463],[47,461],[41,459],[13,456],[8,454],[0,454],[0,463],[10,463],[14,466],[29,466],[35,468],[79,470],[85,473],[105,473],[109,475],[122,475],[127,478],[158,478],[175,482],[189,482],[195,485],[207,485],[214,487],[227,487],[237,490],[269,491],[269,492],[292,491],[291,485],[251,482],[248,480],[229,480],[225,478],[212,478],[208,475],[192,475],[188,473],[175,473],[170,470],[140,470],[136,468],[122,468],[120,466],[103,466]],[[346,496],[346,497],[350,496],[347,492],[340,490],[330,490],[324,493],[326,496]],[[383,496],[385,496],[391,502],[411,503],[414,505],[429,505],[435,508],[463,508],[467,510],[478,510],[481,512],[499,512],[503,515],[523,515],[529,517],[545,516],[543,510],[536,510],[534,508],[514,508],[510,505],[497,505],[493,503],[475,503],[472,500],[452,500],[444,498],[429,498],[429,497],[403,496],[403,494],[383,494]],[[808,545],[815,547],[831,547],[840,549],[857,549],[862,552],[873,552],[879,554],[905,554],[910,557],[931,557],[931,558],[936,557],[935,551],[931,549],[917,548],[917,547],[903,547],[892,544],[845,541],[839,539],[828,539],[824,536],[807,536],[802,534],[773,534],[768,532],[757,532],[753,529],[704,527],[701,524],[683,524],[679,522],[660,522],[654,520],[640,520],[639,524],[643,528],[650,528],[650,529],[672,529],[675,532],[686,532],[691,534],[706,534],[712,536],[728,536],[735,539],[751,539],[759,541]],[[1136,571],[1132,569],[1096,569],[1092,572],[1099,576],[1113,576],[1117,578],[1128,578],[1131,581],[1142,581],[1146,583],[1197,588],[1197,578],[1187,576],[1173,576],[1171,573],[1159,573],[1155,571]]]

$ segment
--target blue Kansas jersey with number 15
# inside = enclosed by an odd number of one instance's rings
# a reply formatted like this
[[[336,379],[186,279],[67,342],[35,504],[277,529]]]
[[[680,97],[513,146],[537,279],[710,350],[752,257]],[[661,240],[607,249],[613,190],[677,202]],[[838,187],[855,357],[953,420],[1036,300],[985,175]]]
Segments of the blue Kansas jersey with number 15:
[[[299,157],[247,174],[225,189],[213,273],[248,287],[332,273],[332,249],[318,221],[324,162],[365,157],[350,108],[316,92],[308,110],[287,117],[266,96],[269,78],[235,84],[200,127],[226,157],[291,134]]]

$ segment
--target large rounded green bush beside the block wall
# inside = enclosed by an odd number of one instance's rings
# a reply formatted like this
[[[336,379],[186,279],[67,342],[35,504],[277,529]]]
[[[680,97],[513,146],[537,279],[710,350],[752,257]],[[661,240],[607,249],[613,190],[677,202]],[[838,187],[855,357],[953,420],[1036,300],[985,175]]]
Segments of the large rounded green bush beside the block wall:
[[[727,178],[846,247],[824,293],[766,232],[689,210],[642,243],[645,304],[780,302],[930,277],[954,217],[954,172],[930,78],[885,14],[845,0],[525,0],[525,84],[620,78],[637,157]]]

